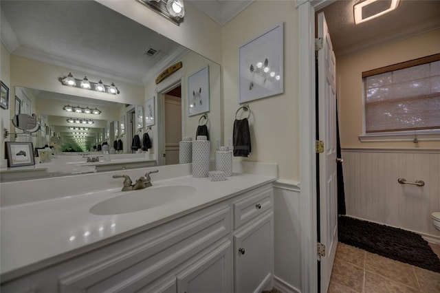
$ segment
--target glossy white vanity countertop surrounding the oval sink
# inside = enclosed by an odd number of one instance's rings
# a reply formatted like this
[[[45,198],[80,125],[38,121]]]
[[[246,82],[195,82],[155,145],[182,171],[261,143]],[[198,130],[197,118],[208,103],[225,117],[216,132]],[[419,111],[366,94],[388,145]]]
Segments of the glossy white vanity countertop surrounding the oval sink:
[[[120,188],[113,188],[2,207],[1,280],[69,259],[274,180],[276,177],[245,173],[234,173],[219,182],[191,175],[153,180],[153,186],[148,188],[184,185],[197,191],[184,200],[120,215],[93,215],[89,209],[104,199],[126,193],[148,195],[150,189],[123,193]]]

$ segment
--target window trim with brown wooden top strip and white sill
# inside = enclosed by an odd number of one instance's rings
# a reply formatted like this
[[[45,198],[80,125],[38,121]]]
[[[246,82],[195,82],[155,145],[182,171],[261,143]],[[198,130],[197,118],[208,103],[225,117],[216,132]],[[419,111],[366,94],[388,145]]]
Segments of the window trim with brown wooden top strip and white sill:
[[[424,56],[421,58],[404,61],[393,65],[388,65],[376,69],[362,72],[362,135],[358,138],[360,142],[380,142],[380,141],[412,141],[417,133],[418,140],[440,140],[440,129],[419,129],[419,130],[401,130],[401,131],[384,131],[384,132],[366,132],[366,100],[365,100],[365,83],[364,78],[377,74],[393,72],[399,69],[405,69],[426,63],[440,61],[440,53]]]

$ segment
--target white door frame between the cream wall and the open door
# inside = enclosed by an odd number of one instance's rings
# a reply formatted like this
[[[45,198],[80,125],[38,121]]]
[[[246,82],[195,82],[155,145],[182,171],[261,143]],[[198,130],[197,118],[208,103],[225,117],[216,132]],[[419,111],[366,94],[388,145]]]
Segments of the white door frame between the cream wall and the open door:
[[[298,0],[300,106],[301,292],[318,292],[316,254],[315,12],[336,0]]]

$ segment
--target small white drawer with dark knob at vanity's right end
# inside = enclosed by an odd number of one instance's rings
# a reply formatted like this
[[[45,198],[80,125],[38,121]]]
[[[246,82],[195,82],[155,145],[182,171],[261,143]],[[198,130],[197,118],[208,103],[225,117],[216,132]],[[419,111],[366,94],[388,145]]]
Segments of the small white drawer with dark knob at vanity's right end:
[[[274,205],[273,188],[267,188],[254,195],[245,196],[234,202],[234,228],[239,228],[250,219],[262,215]]]

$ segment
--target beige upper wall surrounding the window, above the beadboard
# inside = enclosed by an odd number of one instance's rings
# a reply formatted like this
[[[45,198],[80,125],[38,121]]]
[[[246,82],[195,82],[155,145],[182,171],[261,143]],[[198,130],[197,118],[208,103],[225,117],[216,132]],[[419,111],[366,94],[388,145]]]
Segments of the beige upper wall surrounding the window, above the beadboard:
[[[440,142],[360,142],[362,135],[362,72],[440,52],[440,30],[414,36],[336,60],[342,148],[439,149]]]

